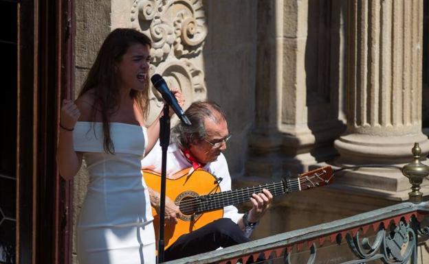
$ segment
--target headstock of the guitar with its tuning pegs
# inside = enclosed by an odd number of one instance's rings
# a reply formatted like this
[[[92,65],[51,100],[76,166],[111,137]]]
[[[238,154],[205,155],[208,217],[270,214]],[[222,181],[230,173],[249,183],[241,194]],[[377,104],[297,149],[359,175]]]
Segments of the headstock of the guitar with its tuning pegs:
[[[331,166],[321,167],[300,174],[297,178],[300,190],[324,186],[333,181],[333,170]]]

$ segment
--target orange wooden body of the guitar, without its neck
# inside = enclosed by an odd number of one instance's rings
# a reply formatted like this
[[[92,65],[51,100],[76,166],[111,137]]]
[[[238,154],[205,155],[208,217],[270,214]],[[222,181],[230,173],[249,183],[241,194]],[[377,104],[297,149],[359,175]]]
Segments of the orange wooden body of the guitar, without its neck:
[[[175,180],[166,179],[166,196],[181,208],[181,214],[177,218],[177,224],[165,226],[165,249],[170,247],[181,235],[188,234],[223,217],[223,208],[201,214],[193,213],[192,204],[194,203],[192,200],[195,200],[195,197],[209,193],[219,193],[221,189],[215,181],[216,178],[207,171],[197,169],[190,175],[188,175],[188,171],[189,169],[179,171],[182,175]],[[161,176],[159,174],[150,170],[143,170],[143,177],[148,187],[157,192],[161,191]],[[152,208],[152,213],[155,236],[158,240],[159,215],[154,208]]]

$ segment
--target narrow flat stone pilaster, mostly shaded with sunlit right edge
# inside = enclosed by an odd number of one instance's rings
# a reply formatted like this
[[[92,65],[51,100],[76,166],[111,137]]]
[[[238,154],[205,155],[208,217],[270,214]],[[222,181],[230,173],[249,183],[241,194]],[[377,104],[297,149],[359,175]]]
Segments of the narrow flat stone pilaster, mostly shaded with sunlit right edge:
[[[278,131],[283,72],[283,8],[279,2],[258,1],[257,7],[255,127],[249,137],[246,170],[259,177],[283,174]]]

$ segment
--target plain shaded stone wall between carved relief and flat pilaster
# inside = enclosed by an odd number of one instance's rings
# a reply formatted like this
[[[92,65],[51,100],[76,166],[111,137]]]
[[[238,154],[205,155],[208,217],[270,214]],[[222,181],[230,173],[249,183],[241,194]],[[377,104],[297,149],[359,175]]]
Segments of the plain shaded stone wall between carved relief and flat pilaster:
[[[232,138],[225,156],[232,175],[243,173],[254,121],[256,1],[203,1],[208,34],[203,71],[207,99],[225,111]],[[237,16],[237,12],[239,15]]]

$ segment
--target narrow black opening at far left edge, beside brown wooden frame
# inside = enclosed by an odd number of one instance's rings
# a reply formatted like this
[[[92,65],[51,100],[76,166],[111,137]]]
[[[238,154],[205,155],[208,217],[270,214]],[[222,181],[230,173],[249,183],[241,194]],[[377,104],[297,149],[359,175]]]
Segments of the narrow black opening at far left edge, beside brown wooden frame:
[[[0,0],[0,263],[15,263],[17,231],[17,1]]]

